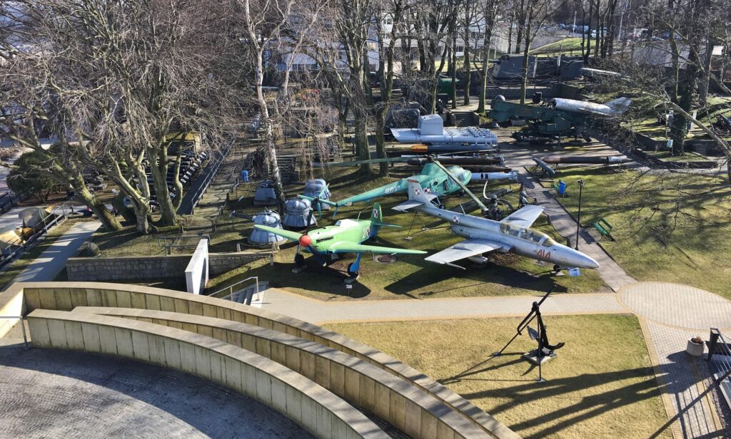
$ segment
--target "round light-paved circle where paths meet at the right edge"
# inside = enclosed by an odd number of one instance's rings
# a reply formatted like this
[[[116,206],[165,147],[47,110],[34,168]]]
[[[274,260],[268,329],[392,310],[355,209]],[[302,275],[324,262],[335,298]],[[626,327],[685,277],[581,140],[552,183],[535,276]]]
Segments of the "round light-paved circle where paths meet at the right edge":
[[[731,301],[698,288],[637,282],[622,287],[618,296],[635,314],[664,325],[698,330],[731,327]]]

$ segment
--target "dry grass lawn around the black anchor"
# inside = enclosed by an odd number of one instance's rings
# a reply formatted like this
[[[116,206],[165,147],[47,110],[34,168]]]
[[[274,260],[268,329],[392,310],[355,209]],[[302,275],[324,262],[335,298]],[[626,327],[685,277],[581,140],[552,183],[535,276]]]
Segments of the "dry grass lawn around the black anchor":
[[[544,365],[548,381],[541,384],[537,368],[520,359],[536,346],[525,333],[490,360],[520,320],[327,327],[436,378],[524,438],[648,438],[667,421],[634,316],[546,317],[550,342],[566,346]],[[659,437],[671,436],[666,430]]]

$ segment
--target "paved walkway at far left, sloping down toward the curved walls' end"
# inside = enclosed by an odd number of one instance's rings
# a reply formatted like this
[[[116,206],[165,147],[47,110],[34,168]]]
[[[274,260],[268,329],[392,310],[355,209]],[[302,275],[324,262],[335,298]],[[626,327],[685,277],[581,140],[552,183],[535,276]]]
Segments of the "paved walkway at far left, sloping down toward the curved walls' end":
[[[56,242],[42,252],[28,267],[15,276],[13,282],[53,281],[75,255],[81,244],[101,227],[98,221],[84,221],[72,226]]]

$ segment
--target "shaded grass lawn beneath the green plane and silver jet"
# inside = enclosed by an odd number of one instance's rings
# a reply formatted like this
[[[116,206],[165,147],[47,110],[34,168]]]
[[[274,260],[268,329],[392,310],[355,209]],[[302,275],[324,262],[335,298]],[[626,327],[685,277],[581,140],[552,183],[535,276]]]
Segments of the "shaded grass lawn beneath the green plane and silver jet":
[[[365,181],[355,177],[352,168],[342,171],[339,168],[338,174],[333,178],[327,176],[330,182],[330,190],[333,199],[345,198],[353,193],[360,193],[379,184],[385,184],[390,179],[376,179]],[[399,167],[395,168],[394,176],[402,177],[414,174],[417,168]],[[517,191],[518,186],[514,189]],[[475,187],[477,190],[477,187]],[[479,188],[482,193],[482,187]],[[517,196],[517,194],[513,194]],[[404,247],[409,249],[422,249],[427,252],[438,252],[462,241],[463,238],[450,233],[445,228],[444,222],[437,222],[431,217],[418,217],[412,228],[412,240],[404,239],[409,225],[414,220],[413,214],[400,214],[391,209],[395,204],[404,201],[404,195],[395,195],[381,198],[385,222],[403,226],[403,228],[383,228],[379,233],[378,244],[384,246]],[[467,201],[467,198],[452,197],[447,201],[447,206],[457,206],[459,202]],[[241,209],[250,213],[260,211],[260,207],[247,206],[251,200],[242,201]],[[517,204],[517,201],[516,201]],[[369,217],[371,204],[360,203],[338,211],[338,217],[358,217],[358,212],[363,211],[363,217]],[[423,221],[423,222],[422,222]],[[332,213],[325,212],[322,219],[318,220],[319,226],[333,223]],[[421,228],[428,225],[431,230],[423,231]],[[537,222],[539,230],[556,236],[555,230],[550,227],[545,219]],[[247,236],[251,230],[251,223],[245,226],[247,229],[242,235]],[[561,239],[561,241],[564,241]],[[327,267],[319,267],[314,260],[308,260],[308,271],[303,273],[292,273],[294,268],[293,260],[296,252],[296,244],[289,242],[282,246],[281,252],[275,257],[275,264],[269,265],[268,260],[260,260],[257,263],[246,265],[238,270],[211,279],[209,291],[216,291],[236,281],[249,276],[259,276],[261,280],[270,281],[272,287],[279,287],[323,300],[347,299],[347,298],[368,298],[368,299],[389,299],[389,298],[445,298],[445,297],[466,297],[486,295],[526,295],[536,292],[545,292],[553,284],[558,284],[556,291],[561,292],[596,292],[602,289],[603,282],[599,275],[591,270],[583,271],[583,276],[551,276],[551,266],[524,257],[515,255],[493,255],[492,263],[485,267],[477,267],[469,261],[462,261],[461,265],[466,270],[428,263],[423,255],[402,255],[396,263],[377,263],[371,260],[370,255],[364,255],[361,264],[360,278],[347,290],[344,284],[346,269],[349,263],[355,259],[354,255],[344,255],[344,259],[338,260]]]

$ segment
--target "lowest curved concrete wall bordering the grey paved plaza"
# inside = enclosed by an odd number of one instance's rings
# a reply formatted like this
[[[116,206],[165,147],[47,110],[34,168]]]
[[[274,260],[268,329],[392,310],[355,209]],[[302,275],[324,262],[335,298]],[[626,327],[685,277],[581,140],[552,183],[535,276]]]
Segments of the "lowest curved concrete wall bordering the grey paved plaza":
[[[112,354],[208,378],[281,412],[318,438],[388,438],[319,384],[246,349],[147,322],[39,309],[28,316],[33,345]]]

